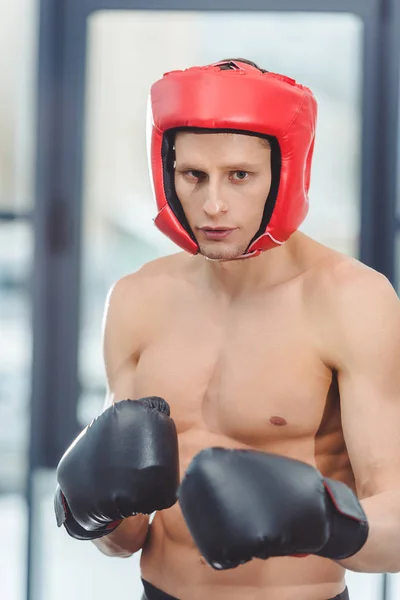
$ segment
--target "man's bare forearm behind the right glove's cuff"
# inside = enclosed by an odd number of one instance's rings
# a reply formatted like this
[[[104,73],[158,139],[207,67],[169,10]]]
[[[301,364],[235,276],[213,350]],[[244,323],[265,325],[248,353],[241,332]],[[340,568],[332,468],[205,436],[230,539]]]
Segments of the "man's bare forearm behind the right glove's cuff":
[[[360,573],[400,571],[400,491],[382,492],[361,501],[369,523],[369,535],[357,554],[337,561]]]

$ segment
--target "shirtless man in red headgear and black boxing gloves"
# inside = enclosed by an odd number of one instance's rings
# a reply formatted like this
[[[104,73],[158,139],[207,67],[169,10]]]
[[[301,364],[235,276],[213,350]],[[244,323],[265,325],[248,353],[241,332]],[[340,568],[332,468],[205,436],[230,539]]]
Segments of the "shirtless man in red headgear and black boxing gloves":
[[[347,599],[345,569],[400,570],[398,298],[297,231],[310,90],[227,60],[150,108],[156,225],[186,252],[109,295],[107,406],[60,461],[58,524],[142,549],[143,599]]]

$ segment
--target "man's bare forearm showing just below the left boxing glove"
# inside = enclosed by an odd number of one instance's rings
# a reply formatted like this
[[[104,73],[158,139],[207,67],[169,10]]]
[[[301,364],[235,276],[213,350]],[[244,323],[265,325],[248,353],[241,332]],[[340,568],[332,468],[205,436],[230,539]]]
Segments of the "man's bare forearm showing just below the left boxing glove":
[[[128,517],[110,534],[93,540],[94,545],[107,556],[128,558],[143,548],[149,529],[149,517]]]

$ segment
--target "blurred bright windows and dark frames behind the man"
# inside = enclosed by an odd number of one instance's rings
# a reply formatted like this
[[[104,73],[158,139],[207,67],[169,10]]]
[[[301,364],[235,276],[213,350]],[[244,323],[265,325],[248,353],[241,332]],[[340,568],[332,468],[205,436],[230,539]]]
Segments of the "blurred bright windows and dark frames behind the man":
[[[61,454],[104,402],[108,289],[176,251],[152,224],[146,157],[163,72],[242,56],[311,87],[302,229],[398,286],[397,0],[209,4],[0,0],[1,598],[140,598],[139,557],[71,540],[52,496]],[[399,576],[347,580],[352,600],[400,597]]]

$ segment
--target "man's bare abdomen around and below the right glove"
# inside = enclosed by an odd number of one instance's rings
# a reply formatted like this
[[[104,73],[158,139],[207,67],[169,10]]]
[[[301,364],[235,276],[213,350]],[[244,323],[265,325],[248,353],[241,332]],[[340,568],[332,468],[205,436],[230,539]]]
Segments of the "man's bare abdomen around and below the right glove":
[[[187,431],[179,435],[181,477],[193,456],[211,446],[249,448],[209,431]],[[315,466],[313,440],[284,440],[257,450]],[[141,572],[143,579],[179,600],[327,600],[345,587],[344,569],[318,556],[254,559],[235,569],[214,570],[200,556],[178,503],[156,513],[142,551]]]

